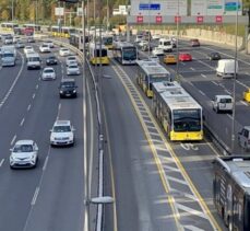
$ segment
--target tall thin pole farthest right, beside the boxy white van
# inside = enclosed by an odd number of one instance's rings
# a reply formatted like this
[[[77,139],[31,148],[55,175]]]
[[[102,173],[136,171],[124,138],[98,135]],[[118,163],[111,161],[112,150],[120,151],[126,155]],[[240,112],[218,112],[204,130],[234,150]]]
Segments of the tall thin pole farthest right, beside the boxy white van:
[[[231,154],[235,152],[235,119],[236,119],[236,77],[237,77],[237,57],[238,57],[238,10],[239,1],[236,2],[236,25],[235,25],[235,73],[233,82],[233,115],[231,115]]]

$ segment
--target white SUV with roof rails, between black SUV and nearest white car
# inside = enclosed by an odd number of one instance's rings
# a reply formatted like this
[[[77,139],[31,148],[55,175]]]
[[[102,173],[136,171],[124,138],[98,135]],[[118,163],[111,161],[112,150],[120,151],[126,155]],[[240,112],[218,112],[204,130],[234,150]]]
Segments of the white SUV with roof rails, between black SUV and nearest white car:
[[[74,128],[70,120],[56,120],[50,130],[51,146],[73,146]]]

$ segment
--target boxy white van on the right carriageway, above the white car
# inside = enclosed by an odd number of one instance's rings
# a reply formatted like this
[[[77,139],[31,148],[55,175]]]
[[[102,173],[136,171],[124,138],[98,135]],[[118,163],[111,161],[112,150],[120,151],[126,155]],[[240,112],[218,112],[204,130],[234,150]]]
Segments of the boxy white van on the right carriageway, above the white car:
[[[236,70],[235,70],[236,63]],[[235,59],[221,59],[216,68],[217,77],[222,78],[233,78],[234,74],[238,74],[238,61],[235,62]]]

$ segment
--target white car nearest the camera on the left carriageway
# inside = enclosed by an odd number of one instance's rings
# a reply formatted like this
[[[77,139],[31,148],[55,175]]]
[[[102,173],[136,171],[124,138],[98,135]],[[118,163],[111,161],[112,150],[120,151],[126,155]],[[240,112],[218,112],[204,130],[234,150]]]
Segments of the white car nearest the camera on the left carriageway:
[[[10,168],[35,168],[38,161],[38,147],[33,140],[19,140],[10,149]]]

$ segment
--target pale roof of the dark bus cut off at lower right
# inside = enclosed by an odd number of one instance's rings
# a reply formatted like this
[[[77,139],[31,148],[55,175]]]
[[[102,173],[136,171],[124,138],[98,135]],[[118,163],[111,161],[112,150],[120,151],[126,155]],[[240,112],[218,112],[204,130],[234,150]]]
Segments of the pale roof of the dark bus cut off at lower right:
[[[229,172],[235,181],[250,193],[250,157],[216,158],[224,169]]]

